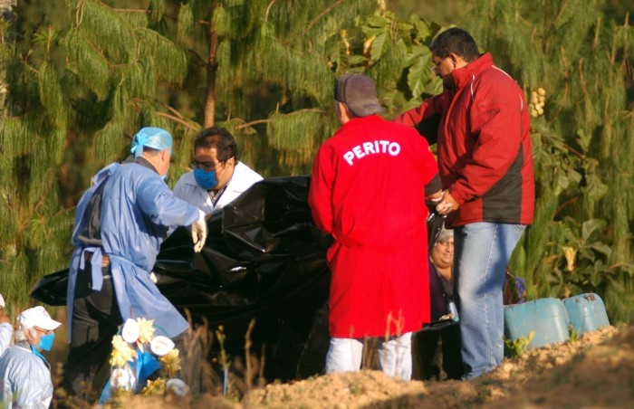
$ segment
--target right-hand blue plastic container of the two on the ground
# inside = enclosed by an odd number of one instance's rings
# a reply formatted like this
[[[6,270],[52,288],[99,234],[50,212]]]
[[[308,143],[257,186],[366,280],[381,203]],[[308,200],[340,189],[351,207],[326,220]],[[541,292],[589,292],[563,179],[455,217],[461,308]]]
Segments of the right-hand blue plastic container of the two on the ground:
[[[568,310],[572,328],[578,334],[610,326],[603,300],[593,292],[567,298],[563,304]]]

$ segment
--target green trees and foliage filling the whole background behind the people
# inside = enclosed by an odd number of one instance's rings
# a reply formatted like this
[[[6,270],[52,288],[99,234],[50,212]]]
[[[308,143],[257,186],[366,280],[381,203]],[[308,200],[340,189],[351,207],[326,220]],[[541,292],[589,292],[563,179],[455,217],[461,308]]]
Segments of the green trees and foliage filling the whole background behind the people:
[[[532,297],[591,290],[612,320],[629,319],[632,29],[604,20],[600,0],[476,3],[466,27],[481,49],[527,96],[546,90],[532,127],[535,220],[511,270]],[[97,168],[127,155],[142,126],[175,137],[170,184],[187,171],[206,122],[229,128],[241,160],[264,176],[296,175],[310,172],[314,152],[338,127],[331,100],[339,75],[377,81],[387,118],[439,93],[428,45],[441,27],[384,4],[67,0],[62,15],[24,0],[29,21],[15,25],[16,43],[0,46],[8,90],[0,288],[24,293],[24,282],[65,266],[72,226],[65,209]],[[50,18],[35,23],[43,14]]]

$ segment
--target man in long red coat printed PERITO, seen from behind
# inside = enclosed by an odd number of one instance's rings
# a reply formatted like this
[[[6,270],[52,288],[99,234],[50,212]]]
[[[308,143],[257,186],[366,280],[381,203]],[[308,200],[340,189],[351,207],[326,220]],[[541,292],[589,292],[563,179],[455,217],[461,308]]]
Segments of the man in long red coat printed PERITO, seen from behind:
[[[425,200],[441,198],[436,160],[414,129],[376,115],[364,75],[339,78],[335,110],[341,128],[315,157],[308,197],[334,238],[326,372],[359,370],[363,338],[381,337],[382,370],[409,379],[411,332],[429,321]]]

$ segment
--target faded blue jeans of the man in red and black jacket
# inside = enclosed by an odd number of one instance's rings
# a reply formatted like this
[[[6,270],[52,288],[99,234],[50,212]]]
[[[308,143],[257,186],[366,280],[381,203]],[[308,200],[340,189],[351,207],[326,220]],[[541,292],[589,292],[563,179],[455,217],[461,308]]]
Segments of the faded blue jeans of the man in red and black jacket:
[[[456,307],[465,379],[492,371],[504,358],[504,273],[525,227],[473,223],[454,231]]]

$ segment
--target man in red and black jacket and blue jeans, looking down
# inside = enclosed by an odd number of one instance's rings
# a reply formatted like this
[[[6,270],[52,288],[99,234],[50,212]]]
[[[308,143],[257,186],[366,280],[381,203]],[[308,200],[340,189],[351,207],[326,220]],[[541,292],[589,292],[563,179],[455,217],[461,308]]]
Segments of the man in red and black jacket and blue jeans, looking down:
[[[437,138],[446,189],[437,205],[455,229],[457,307],[465,378],[504,357],[504,269],[533,221],[530,117],[524,92],[466,31],[450,28],[429,45],[444,91],[397,123]],[[436,123],[437,128],[426,126]],[[437,135],[434,135],[437,131]]]

